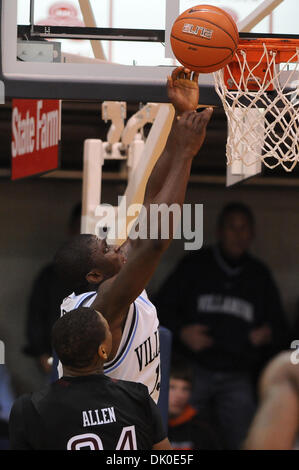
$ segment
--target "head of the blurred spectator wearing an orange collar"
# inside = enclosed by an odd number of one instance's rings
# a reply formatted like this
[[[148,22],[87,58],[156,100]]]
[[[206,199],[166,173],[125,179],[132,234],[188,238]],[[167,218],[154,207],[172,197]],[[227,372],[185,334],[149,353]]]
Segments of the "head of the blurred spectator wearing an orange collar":
[[[174,365],[170,371],[168,414],[170,418],[180,416],[189,404],[193,385],[191,369]]]

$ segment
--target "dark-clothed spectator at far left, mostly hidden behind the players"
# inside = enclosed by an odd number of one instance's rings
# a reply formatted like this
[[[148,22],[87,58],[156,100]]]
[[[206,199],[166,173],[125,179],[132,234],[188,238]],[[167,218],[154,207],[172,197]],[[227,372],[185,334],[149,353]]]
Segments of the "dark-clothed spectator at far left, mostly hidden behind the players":
[[[81,203],[72,210],[68,223],[68,236],[80,233]],[[51,328],[60,317],[60,305],[69,294],[58,281],[53,264],[44,267],[37,276],[31,291],[26,321],[27,344],[25,354],[37,359],[42,371],[52,370]]]

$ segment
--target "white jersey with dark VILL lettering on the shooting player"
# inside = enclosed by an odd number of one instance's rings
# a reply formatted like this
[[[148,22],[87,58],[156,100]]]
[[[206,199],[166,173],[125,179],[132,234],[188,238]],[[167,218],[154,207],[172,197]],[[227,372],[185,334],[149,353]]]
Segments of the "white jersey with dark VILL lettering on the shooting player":
[[[78,307],[90,307],[96,292],[71,294],[61,305],[61,315]],[[160,390],[160,340],[159,321],[154,305],[146,292],[130,305],[122,338],[114,359],[106,362],[104,373],[111,378],[141,382],[157,403]],[[58,366],[59,376],[62,368]]]

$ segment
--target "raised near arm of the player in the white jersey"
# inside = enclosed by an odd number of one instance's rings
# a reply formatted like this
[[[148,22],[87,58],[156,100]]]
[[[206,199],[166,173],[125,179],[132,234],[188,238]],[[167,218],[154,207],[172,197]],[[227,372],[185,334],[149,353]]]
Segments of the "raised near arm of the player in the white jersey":
[[[152,201],[154,204],[176,203],[180,206],[183,204],[192,160],[204,141],[210,116],[209,110],[200,114],[187,112],[179,121],[175,121],[163,152],[163,158],[167,159],[170,171],[161,190]],[[128,306],[150,280],[172,236],[173,233],[170,230],[170,236],[165,240],[131,241],[131,250],[126,264],[114,278],[101,285],[101,295],[98,296],[93,307],[105,316],[108,315],[110,320],[120,311],[127,311]]]

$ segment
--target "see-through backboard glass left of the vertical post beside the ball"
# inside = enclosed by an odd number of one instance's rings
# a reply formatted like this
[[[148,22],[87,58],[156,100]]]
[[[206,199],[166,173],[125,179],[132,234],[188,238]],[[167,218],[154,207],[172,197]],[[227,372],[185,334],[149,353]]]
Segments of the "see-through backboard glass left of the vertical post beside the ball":
[[[35,26],[56,26],[61,28],[84,28],[88,35],[87,26],[103,30],[101,47],[103,58],[130,66],[172,65],[171,59],[165,58],[165,29],[166,29],[166,0],[90,0],[89,5],[93,14],[94,24],[85,24],[86,2],[78,0],[53,1],[39,0],[34,2],[31,18]],[[30,1],[18,1],[18,24],[30,24]],[[107,40],[108,30],[115,31],[114,36],[119,40]],[[124,30],[146,30],[145,39],[138,41],[138,33],[134,40],[121,40]],[[113,32],[113,31],[112,31]],[[155,35],[154,33],[157,32]],[[159,35],[160,32],[160,35]],[[106,34],[105,34],[106,33]],[[153,34],[152,34],[153,33]],[[72,34],[72,32],[70,32]],[[152,37],[150,36],[152,34]],[[105,39],[105,36],[107,39]],[[136,38],[136,39],[135,39]],[[156,39],[157,38],[157,39]],[[152,39],[152,40],[151,40]],[[159,40],[160,39],[160,40]],[[64,52],[78,54],[82,57],[94,58],[89,40],[61,40]]]

